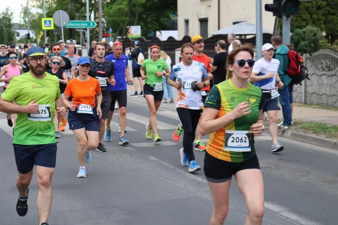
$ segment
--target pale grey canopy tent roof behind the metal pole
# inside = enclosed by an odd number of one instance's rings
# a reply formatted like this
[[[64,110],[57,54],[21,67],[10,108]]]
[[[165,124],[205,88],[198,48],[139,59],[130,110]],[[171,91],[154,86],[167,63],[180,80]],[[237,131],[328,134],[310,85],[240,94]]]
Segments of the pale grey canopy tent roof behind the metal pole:
[[[223,29],[215,31],[211,34],[226,35],[230,33],[234,33],[236,35],[256,35],[256,25],[247,21],[243,21],[232,26],[224,27]],[[272,34],[272,32],[263,28],[263,34]]]

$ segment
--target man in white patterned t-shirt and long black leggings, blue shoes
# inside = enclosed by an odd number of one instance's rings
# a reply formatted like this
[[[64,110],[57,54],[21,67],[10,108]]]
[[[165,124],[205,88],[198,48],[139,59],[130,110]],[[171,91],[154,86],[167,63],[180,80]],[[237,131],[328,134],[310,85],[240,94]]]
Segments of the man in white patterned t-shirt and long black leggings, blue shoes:
[[[186,43],[181,47],[182,62],[173,66],[168,83],[177,88],[176,111],[183,133],[183,148],[180,150],[182,166],[189,166],[188,172],[201,170],[195,162],[193,141],[199,123],[203,101],[201,89],[209,86],[207,68],[203,63],[193,61],[194,48]]]

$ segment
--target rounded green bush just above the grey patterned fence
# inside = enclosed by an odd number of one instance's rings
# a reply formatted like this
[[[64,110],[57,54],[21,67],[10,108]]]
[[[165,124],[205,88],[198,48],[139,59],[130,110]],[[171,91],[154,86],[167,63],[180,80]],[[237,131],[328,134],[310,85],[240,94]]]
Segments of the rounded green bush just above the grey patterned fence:
[[[314,26],[306,26],[296,30],[291,36],[291,43],[296,51],[301,54],[313,53],[321,49],[320,43],[325,41],[322,32]]]

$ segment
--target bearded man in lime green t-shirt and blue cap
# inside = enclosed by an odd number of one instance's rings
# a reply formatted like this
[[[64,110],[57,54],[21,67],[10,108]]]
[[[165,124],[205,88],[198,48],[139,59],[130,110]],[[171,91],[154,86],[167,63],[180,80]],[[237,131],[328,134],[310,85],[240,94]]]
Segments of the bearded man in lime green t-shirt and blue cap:
[[[52,202],[51,177],[57,158],[53,117],[55,110],[65,116],[66,109],[62,106],[58,78],[45,73],[44,50],[32,47],[27,59],[30,72],[12,78],[0,98],[0,110],[18,115],[13,139],[19,191],[16,211],[20,216],[27,213],[28,187],[36,165],[39,224],[47,224]]]

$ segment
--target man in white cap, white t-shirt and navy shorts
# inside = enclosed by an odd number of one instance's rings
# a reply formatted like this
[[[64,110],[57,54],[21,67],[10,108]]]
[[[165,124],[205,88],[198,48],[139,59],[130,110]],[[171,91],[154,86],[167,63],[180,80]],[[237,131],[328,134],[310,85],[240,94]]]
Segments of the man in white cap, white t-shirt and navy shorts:
[[[277,113],[278,106],[278,87],[284,86],[279,79],[277,70],[279,61],[273,59],[274,47],[270,43],[262,46],[263,58],[258,60],[252,68],[252,74],[249,78],[255,82],[255,86],[262,89],[263,92],[263,111],[266,111],[269,118],[269,131],[272,137],[271,152],[283,151],[284,147],[277,142]]]

